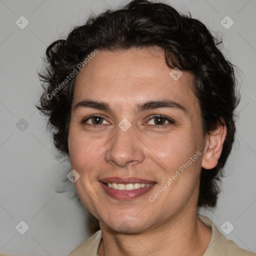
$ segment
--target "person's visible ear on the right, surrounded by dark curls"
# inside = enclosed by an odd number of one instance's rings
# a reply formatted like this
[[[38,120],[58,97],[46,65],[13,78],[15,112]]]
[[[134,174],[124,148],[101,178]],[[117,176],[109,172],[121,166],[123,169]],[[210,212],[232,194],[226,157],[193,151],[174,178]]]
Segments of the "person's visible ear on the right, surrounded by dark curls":
[[[212,169],[217,165],[221,155],[222,146],[226,137],[226,124],[223,119],[215,130],[210,131],[205,137],[205,148],[202,156],[202,167]]]

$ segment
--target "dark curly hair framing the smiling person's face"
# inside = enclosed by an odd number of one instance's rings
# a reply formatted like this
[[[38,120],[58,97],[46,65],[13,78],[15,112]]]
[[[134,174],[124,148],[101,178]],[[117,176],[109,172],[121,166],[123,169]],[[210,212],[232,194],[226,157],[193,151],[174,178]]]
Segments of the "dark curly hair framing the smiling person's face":
[[[133,0],[117,10],[90,16],[84,25],[73,28],[66,39],[56,40],[47,47],[45,65],[39,73],[44,92],[36,107],[47,116],[47,127],[51,128],[57,149],[68,154],[68,126],[76,75],[66,80],[67,75],[95,49],[161,47],[169,67],[192,74],[204,133],[222,125],[223,120],[226,124],[227,135],[216,167],[201,169],[198,206],[214,207],[221,168],[234,140],[234,109],[239,101],[234,66],[217,48],[221,43],[190,15],[181,15],[164,3]]]

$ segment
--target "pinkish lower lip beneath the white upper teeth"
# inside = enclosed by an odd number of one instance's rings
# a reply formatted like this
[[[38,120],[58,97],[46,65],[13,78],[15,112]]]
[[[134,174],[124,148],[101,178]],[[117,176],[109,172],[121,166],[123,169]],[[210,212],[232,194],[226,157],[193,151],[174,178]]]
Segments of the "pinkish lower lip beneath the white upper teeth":
[[[139,197],[146,192],[148,192],[155,183],[151,184],[150,186],[140,187],[133,190],[117,190],[109,187],[108,185],[104,184],[103,182],[100,182],[100,185],[103,187],[105,192],[110,195],[111,197],[119,200],[131,200],[136,197]]]

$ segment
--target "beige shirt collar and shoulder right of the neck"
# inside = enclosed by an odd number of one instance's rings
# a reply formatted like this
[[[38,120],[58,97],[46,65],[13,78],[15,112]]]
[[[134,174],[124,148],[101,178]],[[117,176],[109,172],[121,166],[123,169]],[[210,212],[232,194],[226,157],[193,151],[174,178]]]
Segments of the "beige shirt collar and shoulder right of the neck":
[[[256,253],[238,247],[232,240],[225,238],[213,222],[203,215],[198,215],[205,225],[211,228],[211,238],[203,256],[256,256]]]

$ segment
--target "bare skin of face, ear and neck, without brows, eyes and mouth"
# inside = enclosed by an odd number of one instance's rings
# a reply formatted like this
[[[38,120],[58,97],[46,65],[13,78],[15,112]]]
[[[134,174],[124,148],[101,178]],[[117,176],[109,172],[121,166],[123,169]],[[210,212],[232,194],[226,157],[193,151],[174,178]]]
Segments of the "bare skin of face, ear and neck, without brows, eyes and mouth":
[[[68,146],[72,169],[80,178],[77,192],[99,219],[102,240],[98,255],[200,255],[211,230],[197,217],[201,166],[213,168],[220,156],[225,126],[203,134],[200,108],[191,75],[182,71],[174,80],[160,48],[100,50],[76,77]],[[75,107],[81,100],[109,104],[111,111]],[[148,100],[172,100],[185,110],[159,107],[135,111]],[[101,124],[92,119],[99,114]],[[174,120],[161,120],[161,114]],[[131,127],[118,123],[126,118]],[[94,119],[93,119],[94,120]],[[94,120],[95,121],[95,120]],[[175,171],[201,152],[196,160],[155,199],[149,201]],[[137,177],[154,186],[132,200],[107,195],[99,183],[105,177]],[[151,253],[151,254],[150,254]]]

